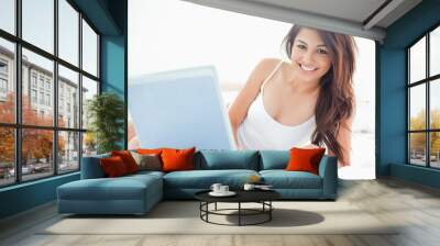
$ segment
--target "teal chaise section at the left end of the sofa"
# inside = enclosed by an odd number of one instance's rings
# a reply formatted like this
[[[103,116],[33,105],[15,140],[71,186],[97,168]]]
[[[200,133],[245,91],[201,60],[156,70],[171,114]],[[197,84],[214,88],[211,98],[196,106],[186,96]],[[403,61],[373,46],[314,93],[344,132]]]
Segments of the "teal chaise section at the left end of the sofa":
[[[82,159],[81,179],[57,189],[58,212],[75,214],[145,214],[163,199],[162,171],[106,178],[100,158]]]

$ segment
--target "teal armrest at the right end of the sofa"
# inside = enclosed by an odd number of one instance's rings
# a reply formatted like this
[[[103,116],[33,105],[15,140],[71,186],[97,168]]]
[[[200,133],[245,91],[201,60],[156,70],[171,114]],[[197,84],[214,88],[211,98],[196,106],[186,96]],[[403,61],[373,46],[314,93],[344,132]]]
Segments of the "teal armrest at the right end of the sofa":
[[[338,159],[333,156],[323,156],[319,163],[319,176],[322,178],[322,197],[336,199],[338,193]]]

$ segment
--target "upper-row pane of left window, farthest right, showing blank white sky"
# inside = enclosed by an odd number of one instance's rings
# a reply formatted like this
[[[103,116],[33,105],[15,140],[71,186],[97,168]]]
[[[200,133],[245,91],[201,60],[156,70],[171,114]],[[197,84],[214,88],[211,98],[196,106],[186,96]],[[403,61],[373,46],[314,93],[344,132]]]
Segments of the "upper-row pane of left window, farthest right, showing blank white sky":
[[[82,20],[82,69],[98,76],[98,35]]]

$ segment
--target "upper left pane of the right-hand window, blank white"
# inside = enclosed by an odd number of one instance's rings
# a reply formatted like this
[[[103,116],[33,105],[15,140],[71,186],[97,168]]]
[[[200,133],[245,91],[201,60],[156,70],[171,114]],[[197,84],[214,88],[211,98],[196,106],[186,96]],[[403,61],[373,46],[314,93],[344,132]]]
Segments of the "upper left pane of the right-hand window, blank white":
[[[409,49],[409,75],[410,82],[426,78],[426,37]]]

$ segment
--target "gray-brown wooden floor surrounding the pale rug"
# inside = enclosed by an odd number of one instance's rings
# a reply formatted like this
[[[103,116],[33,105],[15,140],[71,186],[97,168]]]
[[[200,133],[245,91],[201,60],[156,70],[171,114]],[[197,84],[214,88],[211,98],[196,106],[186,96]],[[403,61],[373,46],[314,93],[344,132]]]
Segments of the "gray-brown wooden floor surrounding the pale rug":
[[[395,179],[342,181],[340,186],[338,201],[404,226],[393,235],[38,235],[38,230],[59,220],[52,203],[0,222],[0,245],[440,245],[440,191]]]

